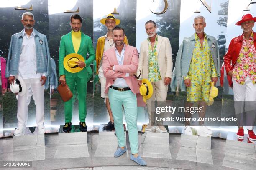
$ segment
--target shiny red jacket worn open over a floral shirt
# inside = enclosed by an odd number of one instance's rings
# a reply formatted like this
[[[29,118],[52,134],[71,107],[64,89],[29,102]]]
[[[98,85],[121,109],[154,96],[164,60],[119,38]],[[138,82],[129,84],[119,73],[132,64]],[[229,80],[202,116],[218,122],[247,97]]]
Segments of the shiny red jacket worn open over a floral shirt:
[[[256,33],[253,32],[253,38],[254,38],[254,47],[256,48]],[[243,34],[235,37],[231,40],[229,47],[228,47],[228,52],[225,54],[224,57],[224,63],[225,63],[225,68],[226,72],[230,70],[233,70],[234,65],[236,64],[236,60],[238,59],[239,52],[242,47],[242,41],[243,41]],[[232,65],[231,64],[232,61]]]

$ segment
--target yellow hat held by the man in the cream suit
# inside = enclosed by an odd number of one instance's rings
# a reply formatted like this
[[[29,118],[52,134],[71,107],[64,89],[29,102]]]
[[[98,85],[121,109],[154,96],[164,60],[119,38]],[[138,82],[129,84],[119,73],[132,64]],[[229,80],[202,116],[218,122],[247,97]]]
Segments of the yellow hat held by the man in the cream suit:
[[[143,78],[142,79],[142,85],[140,86],[140,93],[143,96],[143,101],[146,103],[147,99],[150,99],[153,94],[153,86],[151,82]]]

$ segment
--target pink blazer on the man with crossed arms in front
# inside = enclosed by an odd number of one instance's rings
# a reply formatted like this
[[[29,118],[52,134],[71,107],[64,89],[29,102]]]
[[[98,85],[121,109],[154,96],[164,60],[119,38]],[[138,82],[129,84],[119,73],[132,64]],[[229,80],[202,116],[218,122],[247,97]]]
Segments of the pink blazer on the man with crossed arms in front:
[[[111,67],[114,65],[115,71],[111,70]],[[137,72],[138,51],[136,47],[125,45],[123,65],[118,65],[118,60],[115,54],[115,47],[110,48],[103,54],[102,67],[104,76],[107,78],[105,94],[108,93],[109,87],[114,84],[114,81],[117,78],[124,78],[133,94],[140,92],[137,79],[134,76],[125,77],[126,73]]]

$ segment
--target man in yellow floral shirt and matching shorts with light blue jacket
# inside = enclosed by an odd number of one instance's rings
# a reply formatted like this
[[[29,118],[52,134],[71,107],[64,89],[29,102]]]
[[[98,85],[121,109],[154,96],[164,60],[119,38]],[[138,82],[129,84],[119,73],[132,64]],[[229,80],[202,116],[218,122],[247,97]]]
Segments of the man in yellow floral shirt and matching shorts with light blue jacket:
[[[192,107],[193,102],[199,102],[199,107],[203,107],[199,116],[205,117],[206,102],[209,101],[210,82],[217,82],[220,77],[220,57],[217,40],[205,34],[205,18],[197,16],[194,19],[193,27],[195,34],[189,38],[184,38],[179,47],[175,63],[175,78],[177,85],[185,91],[187,87],[187,105]],[[171,88],[175,88],[172,82]],[[189,112],[186,117],[190,117]],[[199,122],[200,128],[197,133],[200,135],[212,135],[212,131],[204,126],[203,121]],[[189,121],[186,122],[184,130],[186,135],[192,135]]]

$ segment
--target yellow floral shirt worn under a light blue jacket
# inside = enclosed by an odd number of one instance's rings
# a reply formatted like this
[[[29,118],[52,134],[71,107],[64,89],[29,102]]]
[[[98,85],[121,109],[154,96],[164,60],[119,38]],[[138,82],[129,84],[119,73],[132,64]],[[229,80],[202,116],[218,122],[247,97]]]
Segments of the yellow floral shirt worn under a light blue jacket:
[[[187,75],[188,77],[184,77],[184,80],[189,78],[191,82],[198,84],[211,82],[211,77],[218,77],[206,35],[201,47],[200,39],[195,33],[195,48]]]

